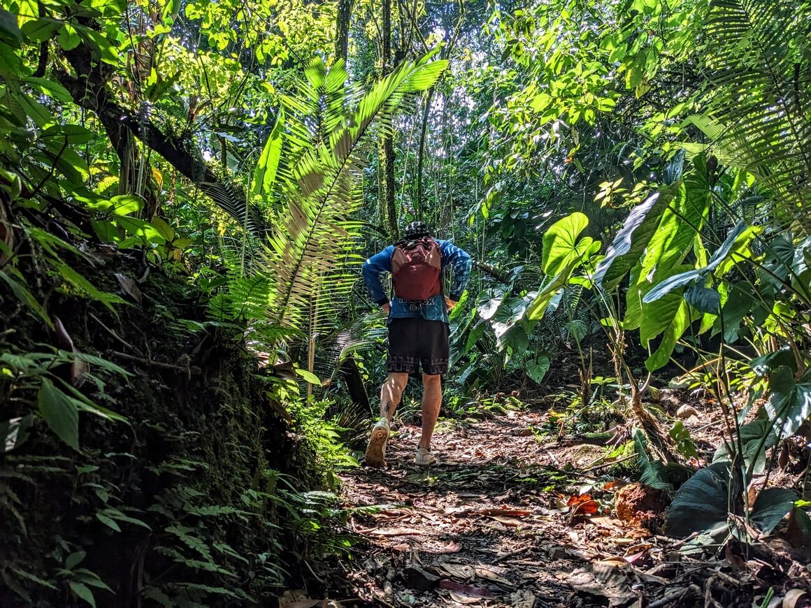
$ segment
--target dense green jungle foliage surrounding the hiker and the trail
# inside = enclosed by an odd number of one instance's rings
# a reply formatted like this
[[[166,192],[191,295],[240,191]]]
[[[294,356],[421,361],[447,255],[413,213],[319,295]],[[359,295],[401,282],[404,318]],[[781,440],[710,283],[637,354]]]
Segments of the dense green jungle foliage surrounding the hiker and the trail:
[[[350,554],[360,266],[413,220],[475,260],[447,415],[555,395],[671,536],[811,537],[811,2],[2,0],[0,130],[3,606],[261,604]]]

